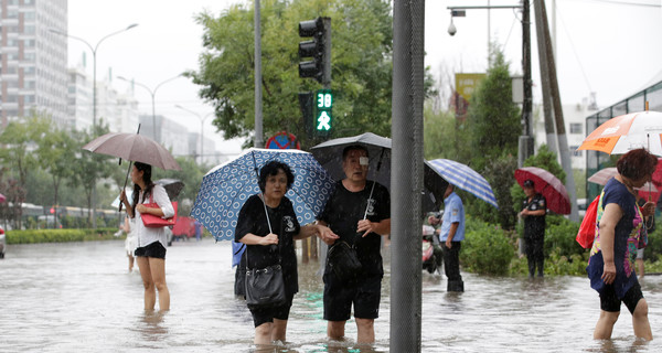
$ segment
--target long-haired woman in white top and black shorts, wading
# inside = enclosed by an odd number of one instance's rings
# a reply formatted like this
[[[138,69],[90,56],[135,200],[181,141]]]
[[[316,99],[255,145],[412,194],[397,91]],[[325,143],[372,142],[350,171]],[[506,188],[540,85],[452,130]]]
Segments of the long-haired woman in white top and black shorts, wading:
[[[166,285],[166,246],[168,239],[163,227],[148,228],[142,223],[141,214],[152,214],[163,218],[174,215],[174,208],[168,197],[166,189],[151,181],[151,165],[135,162],[131,169],[134,182],[134,200],[129,204],[125,191],[119,200],[127,208],[127,213],[135,220],[134,233],[138,238],[138,248],[135,256],[145,286],[145,309],[153,310],[159,292],[160,310],[170,310],[170,292]],[[148,207],[146,203],[157,203],[159,207]]]

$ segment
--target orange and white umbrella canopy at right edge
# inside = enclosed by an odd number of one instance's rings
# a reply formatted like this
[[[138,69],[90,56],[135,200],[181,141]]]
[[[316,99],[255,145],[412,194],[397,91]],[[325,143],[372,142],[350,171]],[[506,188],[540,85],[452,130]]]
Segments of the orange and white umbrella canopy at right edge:
[[[645,148],[662,156],[662,113],[639,111],[611,118],[595,129],[577,148],[609,154],[623,154]]]

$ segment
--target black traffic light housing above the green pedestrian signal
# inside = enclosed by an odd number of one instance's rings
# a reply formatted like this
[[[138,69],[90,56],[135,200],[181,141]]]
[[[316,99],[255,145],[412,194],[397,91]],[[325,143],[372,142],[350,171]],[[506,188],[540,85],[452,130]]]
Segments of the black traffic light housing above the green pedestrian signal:
[[[311,77],[321,84],[331,83],[331,19],[317,18],[299,22],[299,36],[310,41],[299,42],[299,77]]]

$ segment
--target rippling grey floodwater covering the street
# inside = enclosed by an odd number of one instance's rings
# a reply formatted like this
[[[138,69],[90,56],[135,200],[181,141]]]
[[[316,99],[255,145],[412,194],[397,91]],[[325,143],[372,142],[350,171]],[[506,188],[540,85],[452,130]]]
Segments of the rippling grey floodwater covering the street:
[[[142,309],[140,275],[128,272],[124,242],[10,246],[0,260],[0,351],[256,352],[250,313],[233,295],[231,252],[228,242],[173,243],[166,261],[171,310],[159,313]],[[288,342],[267,351],[388,352],[388,264],[385,255],[373,346],[356,346],[353,320],[346,341],[325,339],[323,286],[311,261],[299,265]],[[624,306],[612,340],[592,340],[599,300],[585,278],[462,275],[466,292],[448,293],[442,276],[423,274],[423,352],[662,352],[662,276],[642,281],[655,336],[647,343],[634,339]]]

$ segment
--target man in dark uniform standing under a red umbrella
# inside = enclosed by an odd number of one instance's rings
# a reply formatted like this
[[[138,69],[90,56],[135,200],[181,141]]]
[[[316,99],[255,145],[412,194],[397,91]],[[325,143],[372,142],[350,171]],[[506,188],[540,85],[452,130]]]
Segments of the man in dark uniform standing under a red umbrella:
[[[528,277],[535,275],[543,277],[545,261],[545,215],[547,214],[547,201],[545,196],[535,192],[532,180],[524,181],[524,194],[526,199],[522,202],[520,216],[524,218],[524,242],[526,246],[526,259],[528,260]]]

